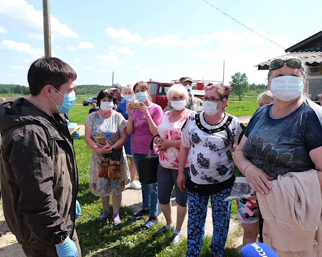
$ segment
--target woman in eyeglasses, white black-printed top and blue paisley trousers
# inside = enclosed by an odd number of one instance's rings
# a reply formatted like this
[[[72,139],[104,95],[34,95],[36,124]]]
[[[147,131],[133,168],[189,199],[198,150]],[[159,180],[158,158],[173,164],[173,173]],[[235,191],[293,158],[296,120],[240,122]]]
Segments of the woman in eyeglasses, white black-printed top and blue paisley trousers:
[[[213,216],[213,256],[223,257],[228,235],[231,194],[235,180],[232,148],[244,127],[239,119],[225,113],[232,88],[213,85],[206,88],[204,112],[190,116],[182,127],[177,185],[188,191],[188,250],[186,256],[198,256],[204,241],[209,198]],[[190,170],[184,170],[190,152]]]

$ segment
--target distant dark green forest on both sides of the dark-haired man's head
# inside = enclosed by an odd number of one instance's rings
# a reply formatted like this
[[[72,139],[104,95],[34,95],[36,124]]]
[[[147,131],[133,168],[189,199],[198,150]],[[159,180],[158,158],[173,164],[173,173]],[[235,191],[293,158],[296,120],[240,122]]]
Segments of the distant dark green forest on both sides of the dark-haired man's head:
[[[104,85],[78,85],[75,88],[76,95],[97,95],[99,91],[110,88]],[[14,85],[14,84],[0,84],[0,94],[21,94],[28,95],[29,87]]]

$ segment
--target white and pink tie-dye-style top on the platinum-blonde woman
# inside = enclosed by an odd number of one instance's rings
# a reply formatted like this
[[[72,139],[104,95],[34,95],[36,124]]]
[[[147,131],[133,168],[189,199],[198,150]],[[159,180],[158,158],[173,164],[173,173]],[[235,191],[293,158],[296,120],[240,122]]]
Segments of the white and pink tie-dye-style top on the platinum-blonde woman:
[[[158,126],[158,133],[160,138],[165,138],[168,140],[177,140],[181,139],[181,128],[185,123],[186,119],[194,115],[196,112],[192,110],[188,110],[185,113],[185,116],[175,122],[169,120],[170,114],[173,111],[167,111],[163,114],[162,121]],[[180,148],[176,147],[169,147],[165,152],[159,152],[159,163],[162,167],[167,169],[178,169],[179,168],[179,150]],[[189,167],[189,155],[190,150],[188,153],[188,158],[185,163],[185,167]]]

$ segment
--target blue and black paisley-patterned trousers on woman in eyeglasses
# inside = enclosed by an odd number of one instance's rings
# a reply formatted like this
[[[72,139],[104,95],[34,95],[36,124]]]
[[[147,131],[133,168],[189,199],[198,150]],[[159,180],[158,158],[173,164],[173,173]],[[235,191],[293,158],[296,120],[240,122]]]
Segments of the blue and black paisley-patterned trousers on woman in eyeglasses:
[[[224,202],[232,192],[232,187],[213,195],[199,196],[188,191],[188,251],[185,256],[198,256],[204,241],[204,229],[207,216],[209,197],[213,216],[213,239],[210,249],[213,255],[223,257],[228,236],[231,202]]]

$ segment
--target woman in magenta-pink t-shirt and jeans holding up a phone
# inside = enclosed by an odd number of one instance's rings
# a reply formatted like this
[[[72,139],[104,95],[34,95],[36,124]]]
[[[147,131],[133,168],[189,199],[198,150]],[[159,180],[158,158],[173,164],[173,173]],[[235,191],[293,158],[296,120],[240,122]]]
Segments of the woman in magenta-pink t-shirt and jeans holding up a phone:
[[[133,163],[139,174],[137,160],[145,159],[149,154],[149,147],[153,135],[157,135],[157,126],[161,122],[162,108],[153,103],[149,97],[149,85],[145,81],[137,82],[133,91],[135,99],[141,104],[139,109],[133,109],[130,104],[127,104],[128,123],[126,126],[128,134],[132,135],[131,150]],[[155,147],[151,156],[156,156],[157,148]],[[140,174],[139,174],[140,176]],[[151,226],[159,223],[158,215],[158,191],[157,183],[144,184],[141,183],[142,189],[142,210],[135,212],[134,217],[142,217],[150,214],[149,219],[143,225],[142,229],[146,230]]]

